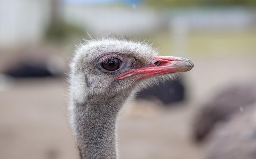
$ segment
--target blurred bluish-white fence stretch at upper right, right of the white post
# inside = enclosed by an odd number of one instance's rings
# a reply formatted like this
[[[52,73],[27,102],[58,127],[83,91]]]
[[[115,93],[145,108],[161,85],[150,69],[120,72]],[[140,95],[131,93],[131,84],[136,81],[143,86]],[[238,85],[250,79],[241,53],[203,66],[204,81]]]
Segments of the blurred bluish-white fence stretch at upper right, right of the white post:
[[[179,9],[169,12],[171,27],[185,24],[193,30],[238,31],[256,27],[256,11],[243,7]]]

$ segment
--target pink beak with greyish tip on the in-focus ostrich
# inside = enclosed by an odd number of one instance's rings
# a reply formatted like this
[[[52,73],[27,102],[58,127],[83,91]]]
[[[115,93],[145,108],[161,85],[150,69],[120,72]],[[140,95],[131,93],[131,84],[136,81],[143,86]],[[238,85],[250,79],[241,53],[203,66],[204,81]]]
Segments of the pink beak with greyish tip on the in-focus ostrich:
[[[117,75],[116,79],[124,79],[134,75],[141,75],[139,79],[142,79],[165,73],[186,72],[191,70],[193,66],[194,64],[191,60],[182,57],[156,56],[155,60],[151,62],[147,67],[137,68],[128,72],[121,73]]]

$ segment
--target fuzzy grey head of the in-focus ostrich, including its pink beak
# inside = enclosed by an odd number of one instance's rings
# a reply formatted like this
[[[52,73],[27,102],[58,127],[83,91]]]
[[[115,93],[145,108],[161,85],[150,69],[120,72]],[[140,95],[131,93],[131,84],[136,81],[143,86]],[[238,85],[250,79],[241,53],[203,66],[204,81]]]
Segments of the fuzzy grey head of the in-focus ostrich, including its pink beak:
[[[71,92],[83,102],[95,95],[137,91],[156,79],[171,79],[194,66],[180,57],[159,57],[148,44],[128,40],[90,40],[76,50],[71,64]]]

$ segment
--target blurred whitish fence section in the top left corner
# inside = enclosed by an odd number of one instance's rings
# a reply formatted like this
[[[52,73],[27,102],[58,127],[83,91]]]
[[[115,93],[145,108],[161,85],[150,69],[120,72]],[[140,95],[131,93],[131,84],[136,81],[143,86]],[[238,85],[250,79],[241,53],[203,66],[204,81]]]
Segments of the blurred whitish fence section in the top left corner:
[[[49,14],[49,0],[0,0],[0,48],[39,42]]]

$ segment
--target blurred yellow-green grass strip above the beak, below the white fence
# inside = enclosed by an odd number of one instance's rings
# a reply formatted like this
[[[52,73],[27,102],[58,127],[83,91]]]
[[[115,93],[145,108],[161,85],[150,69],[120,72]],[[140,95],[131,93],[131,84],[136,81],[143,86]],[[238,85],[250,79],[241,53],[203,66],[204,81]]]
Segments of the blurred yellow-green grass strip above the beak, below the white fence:
[[[158,33],[155,44],[161,46],[162,56],[180,56],[174,51],[173,36],[168,32]],[[184,46],[189,56],[230,56],[255,54],[256,29],[246,31],[201,31],[187,34]]]

